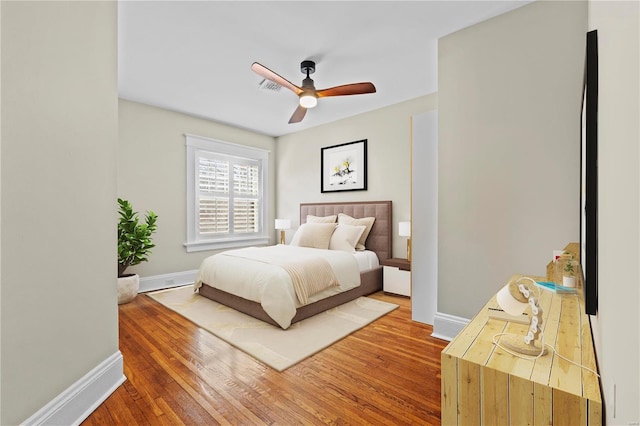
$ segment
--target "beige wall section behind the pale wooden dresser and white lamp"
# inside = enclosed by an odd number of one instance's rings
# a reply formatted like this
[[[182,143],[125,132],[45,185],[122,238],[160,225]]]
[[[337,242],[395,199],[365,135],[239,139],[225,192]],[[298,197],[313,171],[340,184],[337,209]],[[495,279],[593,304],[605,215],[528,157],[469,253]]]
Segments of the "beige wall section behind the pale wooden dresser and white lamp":
[[[471,318],[579,240],[586,23],[540,1],[440,40],[439,312]]]

